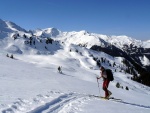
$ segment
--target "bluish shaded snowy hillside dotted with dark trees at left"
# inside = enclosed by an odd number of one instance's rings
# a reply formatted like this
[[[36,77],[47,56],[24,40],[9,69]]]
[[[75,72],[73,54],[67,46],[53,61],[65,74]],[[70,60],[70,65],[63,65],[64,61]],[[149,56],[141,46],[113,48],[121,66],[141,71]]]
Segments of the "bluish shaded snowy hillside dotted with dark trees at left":
[[[59,42],[51,40],[46,43],[47,40],[47,38],[32,36],[29,33],[19,33],[19,36],[11,33],[9,37],[0,40],[0,47],[12,54],[53,54],[61,48]]]

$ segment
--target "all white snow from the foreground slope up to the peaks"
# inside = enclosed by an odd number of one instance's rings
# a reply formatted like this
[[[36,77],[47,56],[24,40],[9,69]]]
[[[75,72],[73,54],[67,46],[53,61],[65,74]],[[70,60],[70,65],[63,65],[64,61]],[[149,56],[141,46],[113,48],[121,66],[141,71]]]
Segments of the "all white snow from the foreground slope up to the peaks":
[[[149,113],[150,88],[132,81],[133,75],[121,71],[127,68],[122,63],[123,58],[89,49],[93,45],[106,47],[107,42],[117,43],[118,46],[130,44],[132,39],[87,31],[61,32],[55,28],[26,32],[10,22],[0,21],[3,23],[0,39],[0,112]],[[80,44],[84,47],[78,46]],[[14,54],[14,59],[6,57],[6,54]],[[104,96],[101,88],[103,81],[99,80],[98,87],[96,80],[100,72],[94,57],[109,61],[102,63],[114,73],[115,80],[110,83],[109,90],[113,93],[112,97],[122,101],[89,96]],[[148,59],[144,57],[141,60],[146,65]],[[111,67],[109,64],[114,62],[116,65]],[[58,66],[62,66],[62,74],[58,73]],[[123,89],[116,88],[117,82]]]

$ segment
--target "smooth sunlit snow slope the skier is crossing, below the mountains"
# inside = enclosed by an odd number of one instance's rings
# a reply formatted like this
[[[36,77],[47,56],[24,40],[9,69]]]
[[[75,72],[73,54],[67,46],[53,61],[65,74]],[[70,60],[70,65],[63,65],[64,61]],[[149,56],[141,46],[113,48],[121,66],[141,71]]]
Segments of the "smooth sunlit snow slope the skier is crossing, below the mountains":
[[[76,46],[71,46],[76,48]],[[99,70],[87,49],[83,56],[69,52],[68,47],[53,55],[20,55],[15,59],[0,54],[0,111],[2,113],[149,113],[150,88],[131,81],[132,75],[114,72],[110,83],[112,96],[123,101],[103,100],[89,95],[104,96]],[[107,54],[96,53],[98,56]],[[62,66],[63,73],[57,72]],[[107,65],[105,65],[107,66]],[[93,68],[91,68],[93,67]],[[119,82],[124,89],[116,88]],[[129,87],[129,91],[125,87]],[[100,88],[100,89],[98,89]],[[99,94],[100,90],[100,94]]]

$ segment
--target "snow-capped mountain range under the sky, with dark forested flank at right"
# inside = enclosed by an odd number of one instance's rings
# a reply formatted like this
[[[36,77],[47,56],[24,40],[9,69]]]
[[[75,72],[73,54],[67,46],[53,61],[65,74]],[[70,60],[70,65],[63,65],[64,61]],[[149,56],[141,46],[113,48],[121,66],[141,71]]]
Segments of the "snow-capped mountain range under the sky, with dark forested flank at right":
[[[105,52],[113,57],[123,57],[124,64],[129,67],[126,71],[134,75],[133,80],[150,85],[150,40],[107,36],[84,30],[62,32],[56,28],[46,28],[27,31],[13,22],[0,19],[0,48],[6,52],[54,54],[60,48],[63,49],[62,43]],[[99,62],[97,58],[94,59]]]

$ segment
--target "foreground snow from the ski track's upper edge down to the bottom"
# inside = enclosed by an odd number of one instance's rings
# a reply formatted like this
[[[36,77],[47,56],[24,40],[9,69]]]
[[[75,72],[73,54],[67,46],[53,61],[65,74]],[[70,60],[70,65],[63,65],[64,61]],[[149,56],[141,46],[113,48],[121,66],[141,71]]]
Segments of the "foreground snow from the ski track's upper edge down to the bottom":
[[[93,102],[100,104],[96,105]],[[103,106],[104,108],[101,108],[102,104],[105,104],[105,107]],[[86,106],[90,105],[90,111],[88,111],[89,109],[86,108]],[[47,95],[39,94],[35,98],[30,100],[18,98],[18,100],[16,102],[13,102],[12,105],[3,108],[2,113],[92,113],[96,112],[99,107],[103,111],[108,111],[108,106],[110,106],[111,108],[119,106],[119,108],[117,109],[118,113],[125,113],[125,111],[137,112],[138,110],[143,111],[143,113],[148,113],[150,110],[150,106],[142,104],[115,100],[104,100],[97,97],[91,97],[85,94],[50,91]],[[92,107],[94,108],[92,109]],[[96,110],[95,107],[97,107]],[[127,109],[122,111],[120,107]],[[112,110],[111,113],[113,112],[114,111]]]

